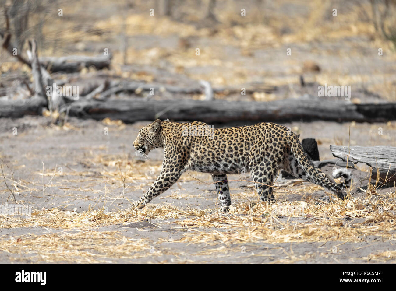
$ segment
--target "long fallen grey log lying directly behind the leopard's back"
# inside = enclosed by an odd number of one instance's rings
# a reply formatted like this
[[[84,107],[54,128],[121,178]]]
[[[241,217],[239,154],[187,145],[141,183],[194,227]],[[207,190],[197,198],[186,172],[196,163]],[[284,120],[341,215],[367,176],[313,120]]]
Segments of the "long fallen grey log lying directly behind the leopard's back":
[[[105,93],[105,92],[104,92]],[[352,104],[322,100],[301,102],[286,99],[272,102],[107,99],[76,101],[69,106],[70,116],[101,120],[109,117],[124,122],[138,120],[200,120],[207,123],[262,122],[285,120],[333,120],[385,122],[396,119],[396,103]],[[65,111],[63,107],[61,110]]]

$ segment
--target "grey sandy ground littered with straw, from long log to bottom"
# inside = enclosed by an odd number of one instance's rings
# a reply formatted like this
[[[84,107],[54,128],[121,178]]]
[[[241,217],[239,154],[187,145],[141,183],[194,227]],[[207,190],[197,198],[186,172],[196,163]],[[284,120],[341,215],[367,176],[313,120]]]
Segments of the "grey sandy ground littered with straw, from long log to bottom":
[[[393,220],[376,219],[371,223],[365,223],[367,215],[375,212],[369,203],[364,207],[367,209],[364,215],[355,217],[345,211],[270,216],[267,212],[253,219],[252,213],[243,211],[250,202],[257,202],[252,183],[235,181],[230,182],[230,192],[236,210],[223,215],[216,211],[214,185],[206,184],[211,183],[211,177],[189,172],[146,209],[124,213],[128,200],[141,196],[160,171],[163,157],[160,149],[151,152],[148,161],[135,159],[132,141],[145,124],[72,118],[60,128],[44,117],[0,120],[0,154],[4,157],[6,181],[12,185],[8,165],[13,171],[13,192],[18,204],[31,205],[33,209],[30,217],[0,216],[0,262],[396,262],[396,234],[394,228],[389,228],[394,226],[392,207],[387,210]],[[395,144],[396,137],[393,122],[284,125],[300,133],[301,138],[316,138],[321,159],[331,158],[330,144],[348,145],[350,140],[351,145],[390,145]],[[378,127],[383,127],[383,135],[378,135]],[[332,166],[322,170],[329,173]],[[353,169],[351,193],[355,199],[377,203],[379,199],[394,197],[395,188],[383,186],[367,198],[363,191],[368,183],[366,171],[363,165]],[[241,178],[249,180],[249,175],[228,177]],[[1,180],[0,204],[13,204],[12,196],[7,199],[10,192],[3,177]],[[286,182],[278,177],[278,185]],[[316,199],[320,207],[329,205],[321,202],[326,193],[312,188],[311,183],[283,187],[296,192],[276,189],[278,203]],[[171,208],[171,212],[163,210]],[[102,219],[102,224],[101,219],[77,219],[92,209],[102,209],[104,217],[109,217]],[[167,214],[157,215],[160,211]],[[204,211],[202,215],[200,211]],[[270,220],[263,221],[262,217]],[[200,225],[196,219],[205,220],[206,224]],[[241,222],[235,223],[238,219]],[[253,235],[261,225],[257,219],[261,219],[266,233],[271,235]],[[307,235],[307,227],[315,225],[328,230]],[[238,232],[240,239],[232,237],[234,232]],[[246,232],[252,235],[247,236]]]

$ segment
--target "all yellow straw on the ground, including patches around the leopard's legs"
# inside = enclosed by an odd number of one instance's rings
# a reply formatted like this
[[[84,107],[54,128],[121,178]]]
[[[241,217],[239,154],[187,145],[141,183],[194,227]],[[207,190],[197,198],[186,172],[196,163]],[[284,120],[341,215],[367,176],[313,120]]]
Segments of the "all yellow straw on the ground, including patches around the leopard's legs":
[[[232,196],[235,203],[228,214],[219,213],[217,208],[176,207],[164,202],[148,204],[141,210],[105,212],[105,205],[115,206],[115,202],[122,199],[124,194],[124,191],[119,191],[117,196],[110,197],[108,187],[122,187],[124,190],[145,189],[155,179],[160,166],[149,160],[134,164],[131,170],[130,164],[123,163],[120,157],[113,155],[97,156],[92,163],[105,165],[105,170],[98,175],[105,178],[107,185],[104,192],[95,190],[104,194],[95,205],[81,213],[77,213],[77,209],[70,212],[57,207],[34,209],[30,217],[0,216],[1,228],[36,228],[41,232],[43,229],[48,231],[48,234],[27,234],[15,238],[3,236],[0,239],[0,251],[18,254],[19,259],[18,256],[10,256],[11,259],[33,262],[114,262],[119,259],[128,261],[142,258],[159,262],[158,257],[161,255],[171,254],[179,258],[184,256],[181,248],[166,248],[163,247],[164,243],[203,243],[208,247],[198,251],[196,255],[208,256],[227,251],[232,243],[360,242],[366,236],[380,236],[383,241],[392,243],[396,238],[396,191],[393,189],[384,193],[382,190],[384,194],[379,194],[382,184],[378,179],[374,184],[369,183],[367,189],[361,189],[365,192],[362,196],[348,196],[347,200],[339,200],[330,195],[329,203],[311,195],[321,190],[319,186],[296,179],[274,185],[274,194],[278,201],[275,204],[260,202],[254,188],[234,191]],[[48,173],[40,171],[40,174],[52,179],[53,170]],[[79,191],[92,191],[90,187],[94,186],[95,181],[97,183],[98,177],[91,177],[89,174],[92,173],[84,174],[84,187],[80,187]],[[81,173],[76,173],[77,175]],[[202,175],[185,175],[180,183],[196,180],[196,177]],[[56,181],[57,186],[63,184],[61,176],[53,181]],[[80,184],[81,180],[76,179],[75,182]],[[69,179],[69,183],[74,182]],[[129,186],[131,183],[133,187]],[[25,188],[29,186],[23,181],[15,181],[15,184]],[[53,184],[54,182],[52,186]],[[41,188],[46,191],[47,186],[42,187],[43,185],[36,185],[40,186],[37,195],[42,195]],[[187,197],[183,188],[179,187],[176,192],[177,195],[164,194],[160,198]],[[300,201],[280,199],[289,193],[299,195]],[[205,198],[204,194],[197,196]],[[152,228],[139,229],[142,233],[137,239],[128,238],[127,234],[124,236],[114,230],[98,230],[112,225],[118,225],[118,229],[121,229],[138,221],[148,221]],[[144,235],[145,231],[153,228],[170,228],[178,235],[173,238],[160,236],[149,239]],[[309,256],[310,254],[306,254],[297,258],[288,255],[276,262],[295,262],[308,259]],[[394,251],[379,251],[363,259],[382,262],[394,258]]]

